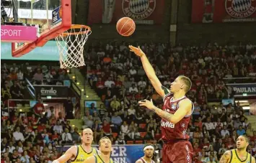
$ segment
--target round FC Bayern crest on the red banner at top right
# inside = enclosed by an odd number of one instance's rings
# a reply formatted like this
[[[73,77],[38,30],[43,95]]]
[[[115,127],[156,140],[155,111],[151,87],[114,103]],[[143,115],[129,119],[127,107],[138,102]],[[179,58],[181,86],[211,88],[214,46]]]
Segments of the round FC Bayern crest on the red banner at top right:
[[[231,17],[250,17],[256,11],[256,0],[226,0],[225,7]]]

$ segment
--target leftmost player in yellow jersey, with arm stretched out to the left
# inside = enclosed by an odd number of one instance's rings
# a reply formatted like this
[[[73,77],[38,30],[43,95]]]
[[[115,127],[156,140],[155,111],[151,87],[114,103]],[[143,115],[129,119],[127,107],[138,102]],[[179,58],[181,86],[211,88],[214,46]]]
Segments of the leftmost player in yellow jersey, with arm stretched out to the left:
[[[99,154],[97,149],[92,148],[93,132],[92,129],[84,129],[81,132],[81,145],[71,146],[65,154],[53,161],[53,163],[64,163],[71,159],[71,162],[81,163],[88,157]]]

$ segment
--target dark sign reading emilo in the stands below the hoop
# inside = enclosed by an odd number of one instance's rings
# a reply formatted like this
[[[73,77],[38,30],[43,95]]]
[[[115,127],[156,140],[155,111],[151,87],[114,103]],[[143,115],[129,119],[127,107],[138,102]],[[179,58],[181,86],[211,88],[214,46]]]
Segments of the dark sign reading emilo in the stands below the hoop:
[[[35,88],[35,97],[39,95],[43,98],[51,96],[52,98],[66,98],[69,95],[69,87],[63,85],[33,85]]]

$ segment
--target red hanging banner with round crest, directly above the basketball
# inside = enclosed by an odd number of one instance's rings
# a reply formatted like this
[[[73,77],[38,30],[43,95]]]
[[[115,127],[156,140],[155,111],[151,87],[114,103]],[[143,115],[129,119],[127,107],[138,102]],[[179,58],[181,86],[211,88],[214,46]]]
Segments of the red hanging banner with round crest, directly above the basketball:
[[[93,0],[89,1],[88,24],[115,23],[131,17],[141,24],[161,24],[165,0]],[[145,23],[143,23],[145,22]]]

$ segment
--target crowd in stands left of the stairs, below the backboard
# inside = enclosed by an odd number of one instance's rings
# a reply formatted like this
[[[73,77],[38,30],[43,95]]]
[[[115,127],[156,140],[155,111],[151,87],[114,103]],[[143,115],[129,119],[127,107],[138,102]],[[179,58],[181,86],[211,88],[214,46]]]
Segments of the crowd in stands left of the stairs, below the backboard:
[[[40,98],[20,112],[18,106],[26,104],[19,100],[27,99],[25,78],[33,85],[62,85],[69,75],[45,65],[1,65],[1,162],[52,162],[60,156],[56,146],[79,143],[78,129],[53,107],[45,109]]]

